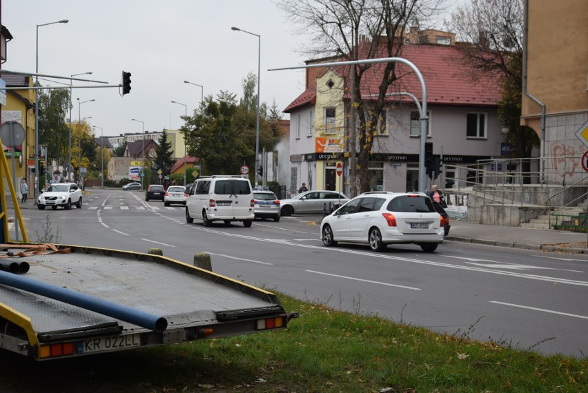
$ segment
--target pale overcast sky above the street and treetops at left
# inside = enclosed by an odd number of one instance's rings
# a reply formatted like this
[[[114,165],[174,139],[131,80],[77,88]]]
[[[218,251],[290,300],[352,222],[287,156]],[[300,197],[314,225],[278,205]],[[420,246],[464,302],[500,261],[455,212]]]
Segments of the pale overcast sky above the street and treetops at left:
[[[306,60],[297,49],[303,35],[270,0],[0,0],[1,22],[14,39],[2,68],[35,72],[35,34],[39,27],[39,73],[121,82],[131,72],[130,94],[118,88],[74,89],[72,120],[88,123],[105,136],[145,130],[177,129],[204,96],[226,90],[242,96],[242,79],[257,74],[257,37],[231,30],[237,26],[261,36],[261,99],[280,110],[304,90],[304,71],[272,71]],[[68,84],[69,80],[62,80]],[[57,83],[43,80],[43,85]],[[74,82],[74,85],[88,85]],[[78,101],[95,99],[78,105]],[[284,114],[284,119],[288,115]],[[97,135],[100,130],[97,129]]]

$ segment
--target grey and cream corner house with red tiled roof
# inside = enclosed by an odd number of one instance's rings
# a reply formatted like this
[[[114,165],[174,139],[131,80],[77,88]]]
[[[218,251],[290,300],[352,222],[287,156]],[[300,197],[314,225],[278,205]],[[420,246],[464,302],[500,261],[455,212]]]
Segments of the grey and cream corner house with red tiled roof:
[[[491,74],[471,72],[462,53],[450,45],[406,43],[400,57],[413,63],[422,74],[427,90],[427,141],[433,154],[442,154],[444,163],[469,164],[480,159],[500,157],[503,136],[497,115],[502,81]],[[326,63],[338,59],[313,60]],[[374,64],[362,79],[362,98],[369,110],[380,84],[384,63]],[[418,189],[420,152],[420,113],[406,95],[422,103],[422,86],[409,66],[396,64],[400,77],[389,88],[389,97],[380,114],[369,163],[371,190],[412,191]],[[312,190],[346,192],[349,174],[349,68],[307,68],[306,90],[284,112],[290,114],[291,190],[306,183]],[[342,177],[337,177],[342,163]],[[467,173],[444,172],[433,183],[449,188]]]

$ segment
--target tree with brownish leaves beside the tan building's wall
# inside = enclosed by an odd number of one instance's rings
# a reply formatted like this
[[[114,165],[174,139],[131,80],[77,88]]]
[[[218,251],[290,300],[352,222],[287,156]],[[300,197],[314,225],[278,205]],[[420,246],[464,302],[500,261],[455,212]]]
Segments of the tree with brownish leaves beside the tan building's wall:
[[[540,139],[531,128],[520,125],[523,1],[471,0],[453,12],[450,28],[467,43],[460,49],[472,78],[482,71],[504,80],[498,115],[509,128],[505,141],[511,145],[511,157],[531,157]]]

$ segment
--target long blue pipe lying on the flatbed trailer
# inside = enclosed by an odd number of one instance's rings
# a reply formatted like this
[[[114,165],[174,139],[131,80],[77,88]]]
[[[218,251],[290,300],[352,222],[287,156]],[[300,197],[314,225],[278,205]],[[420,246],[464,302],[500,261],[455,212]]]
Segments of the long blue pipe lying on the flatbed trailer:
[[[111,316],[112,318],[133,323],[134,325],[141,326],[141,328],[146,328],[155,332],[164,332],[168,327],[167,319],[162,316],[136,310],[112,301],[99,299],[75,290],[61,288],[57,285],[42,283],[32,279],[24,279],[16,274],[0,271],[0,284],[46,296],[50,299],[62,301],[63,303],[75,305],[79,308],[84,308],[99,314]]]

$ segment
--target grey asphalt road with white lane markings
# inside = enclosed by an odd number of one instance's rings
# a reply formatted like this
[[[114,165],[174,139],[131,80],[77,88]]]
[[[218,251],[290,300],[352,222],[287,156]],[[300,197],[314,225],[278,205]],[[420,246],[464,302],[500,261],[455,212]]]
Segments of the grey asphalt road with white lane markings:
[[[321,217],[205,228],[187,224],[183,206],[146,202],[139,191],[91,189],[81,210],[23,210],[31,241],[47,215],[61,243],[161,248],[187,263],[208,252],[215,272],[338,310],[544,354],[588,354],[584,255],[451,241],[431,254],[417,245],[325,248]]]

